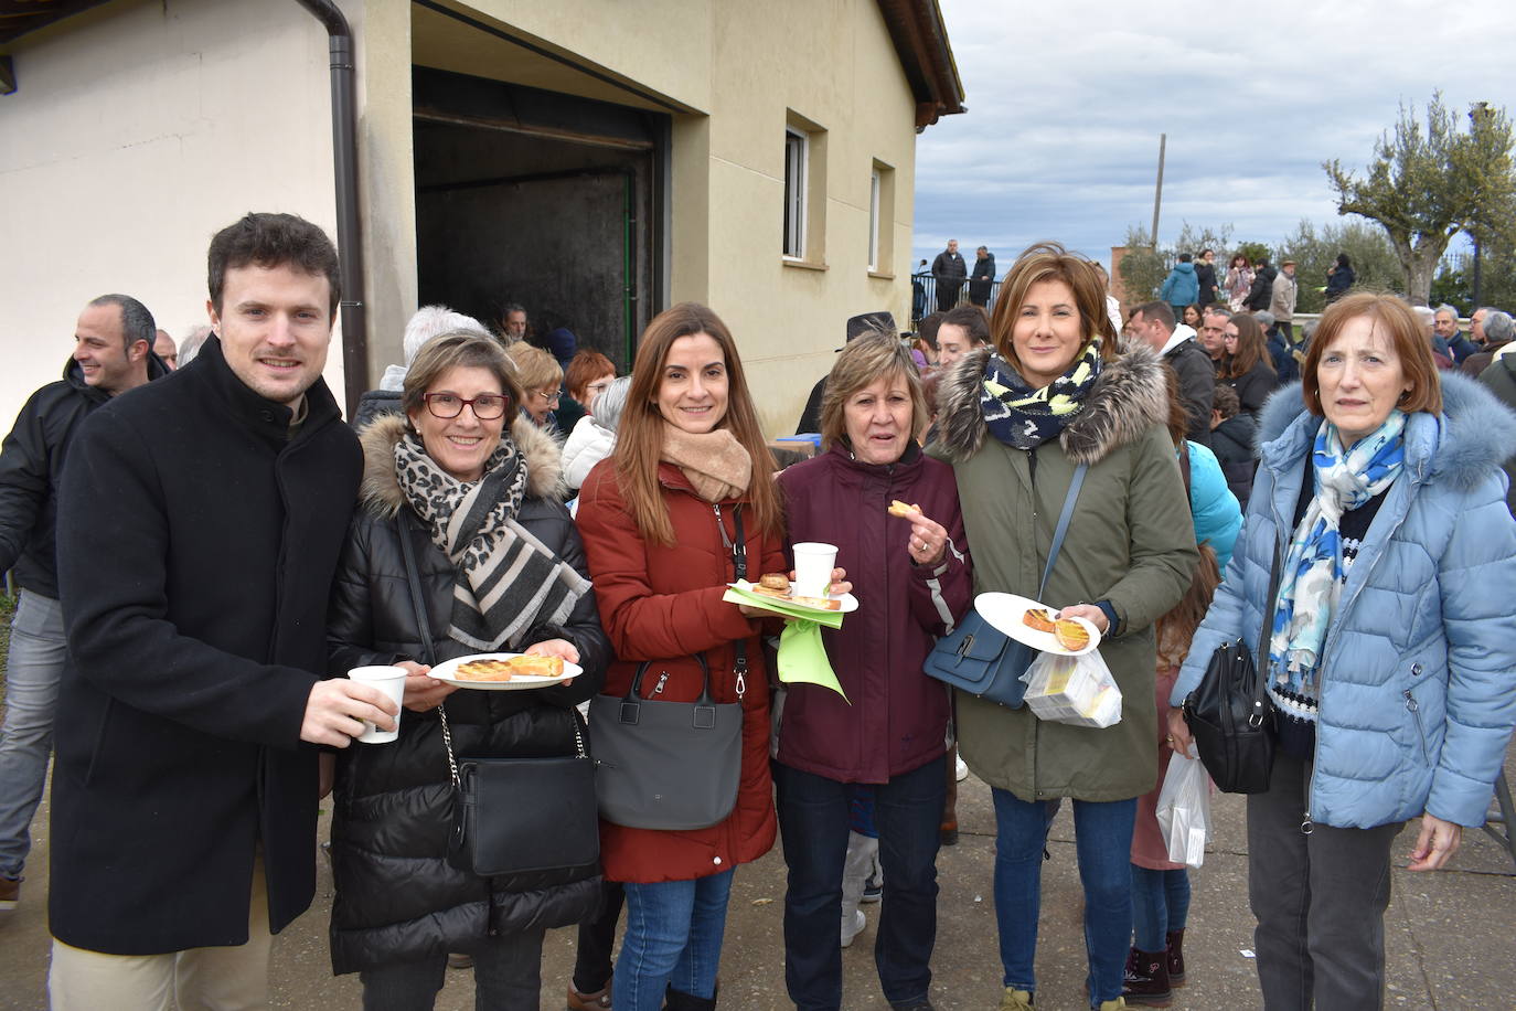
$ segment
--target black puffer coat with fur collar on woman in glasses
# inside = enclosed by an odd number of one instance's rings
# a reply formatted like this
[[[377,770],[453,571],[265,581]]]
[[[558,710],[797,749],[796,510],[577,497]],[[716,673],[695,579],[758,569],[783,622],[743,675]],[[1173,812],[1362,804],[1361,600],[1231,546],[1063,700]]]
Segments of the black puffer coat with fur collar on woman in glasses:
[[[447,638],[453,564],[432,544],[394,477],[394,443],[405,418],[388,415],[361,432],[362,509],[353,520],[332,590],[332,673],[364,664],[423,659],[400,552],[399,529],[415,546],[438,659],[473,653]],[[584,547],[562,506],[558,447],[531,421],[511,435],[528,465],[528,497],[517,520],[588,577]],[[397,523],[400,526],[397,526]],[[611,646],[593,593],[565,626],[543,624],[523,644],[565,638],[579,649],[584,676],[565,688],[455,691],[447,697],[459,756],[572,755],[573,706],[605,679]],[[578,923],[599,902],[600,879],[572,884],[552,873],[476,878],[447,862],[452,784],[437,711],[405,709],[400,740],[353,744],[338,758],[332,820],[332,970],[349,973],[438,952],[471,952],[493,934]]]

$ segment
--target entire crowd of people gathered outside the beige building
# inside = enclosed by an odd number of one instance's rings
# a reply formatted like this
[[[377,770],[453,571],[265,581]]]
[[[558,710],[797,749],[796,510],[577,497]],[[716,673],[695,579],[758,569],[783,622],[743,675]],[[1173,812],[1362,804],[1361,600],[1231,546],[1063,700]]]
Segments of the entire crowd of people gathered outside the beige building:
[[[0,450],[0,562],[21,587],[0,908],[56,746],[52,1006],[262,1006],[329,797],[330,961],[364,1008],[429,1008],[449,966],[471,967],[481,1008],[537,1008],[561,926],[572,1011],[714,1008],[734,876],[778,840],[790,1000],[847,1006],[841,950],[873,879],[882,994],[929,1011],[960,752],[994,811],[985,1002],[1034,1006],[1067,802],[1088,1005],[1167,1006],[1192,911],[1158,793],[1189,753],[1186,697],[1237,640],[1280,714],[1248,799],[1264,1003],[1380,1006],[1392,840],[1419,817],[1410,869],[1442,867],[1516,723],[1511,317],[1480,309],[1464,338],[1448,306],[1422,320],[1354,290],[1343,256],[1348,283],[1296,341],[1293,264],[1217,274],[1205,250],[1122,318],[1099,265],[1055,243],[988,312],[985,276],[957,243],[944,256],[970,302],[954,291],[914,338],[887,312],[847,320],[800,418],[808,459],[770,449],[738,335],[694,303],[649,323],[626,376],[518,305],[499,330],[428,306],[344,423],[321,379],[337,252],[293,215],[212,239],[196,349],[127,296],[85,306],[64,379]],[[852,602],[840,624],[732,599],[796,579],[817,543],[837,556],[825,591]],[[1119,721],[928,678],[982,593],[1099,632]],[[479,653],[578,673],[434,678]],[[787,676],[802,653],[835,687]],[[399,697],[346,676],[370,667],[400,671]],[[678,770],[700,793],[731,775],[717,814],[659,820],[628,790],[600,797],[597,865],[465,858],[461,764],[584,756],[600,720],[659,702],[696,726],[731,714],[731,762]],[[358,743],[371,732],[396,737]],[[568,808],[596,802],[541,805],[515,817],[593,820]]]

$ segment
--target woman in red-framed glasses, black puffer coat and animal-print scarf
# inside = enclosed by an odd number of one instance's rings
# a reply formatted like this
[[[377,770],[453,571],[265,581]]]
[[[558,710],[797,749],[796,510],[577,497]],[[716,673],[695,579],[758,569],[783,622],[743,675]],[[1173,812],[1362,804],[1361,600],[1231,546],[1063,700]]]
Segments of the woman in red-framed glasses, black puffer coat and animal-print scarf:
[[[479,1006],[535,1008],[543,931],[599,903],[599,878],[476,878],[447,862],[440,703],[458,755],[573,755],[573,706],[599,688],[609,656],[561,502],[558,447],[517,417],[520,399],[496,341],[444,333],[411,365],[405,415],[361,432],[362,499],[332,590],[330,670],[397,664],[409,675],[400,740],[350,747],[338,762],[332,967],[359,973],[367,1011],[431,1008],[449,952],[473,955]],[[402,538],[414,547],[417,605]],[[455,693],[426,676],[417,606],[438,659],[525,652],[585,673],[532,691]]]

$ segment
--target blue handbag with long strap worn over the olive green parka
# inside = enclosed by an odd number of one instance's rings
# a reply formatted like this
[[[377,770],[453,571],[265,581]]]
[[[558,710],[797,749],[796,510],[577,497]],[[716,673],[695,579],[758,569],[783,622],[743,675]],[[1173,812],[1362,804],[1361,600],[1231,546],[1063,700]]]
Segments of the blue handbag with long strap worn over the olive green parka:
[[[1063,512],[1058,515],[1058,526],[1048,550],[1043,581],[1037,588],[1038,597],[1048,590],[1048,576],[1052,574],[1052,565],[1058,561],[1058,550],[1063,547],[1064,534],[1069,532],[1069,520],[1073,517],[1073,503],[1079,500],[1079,487],[1084,484],[1084,474],[1088,468],[1088,464],[1079,464],[1069,482],[1069,493],[1063,499]],[[922,670],[926,676],[949,684],[958,691],[998,702],[1010,709],[1020,709],[1026,696],[1026,682],[1022,681],[1022,675],[1026,673],[1034,659],[1037,659],[1037,650],[1001,632],[978,611],[970,611],[952,632],[937,640],[932,652],[926,655],[926,664]]]

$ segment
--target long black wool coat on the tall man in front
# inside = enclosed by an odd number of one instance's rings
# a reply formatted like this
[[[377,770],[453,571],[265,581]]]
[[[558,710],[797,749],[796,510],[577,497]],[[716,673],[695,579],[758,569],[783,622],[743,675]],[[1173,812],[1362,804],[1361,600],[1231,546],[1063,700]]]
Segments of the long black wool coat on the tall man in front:
[[[112,955],[247,940],[315,893],[326,603],[361,461],[326,383],[305,423],[209,338],[79,429],[59,494],[70,661],[55,725],[53,937]]]

